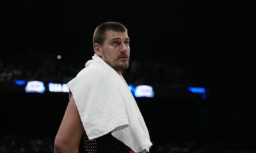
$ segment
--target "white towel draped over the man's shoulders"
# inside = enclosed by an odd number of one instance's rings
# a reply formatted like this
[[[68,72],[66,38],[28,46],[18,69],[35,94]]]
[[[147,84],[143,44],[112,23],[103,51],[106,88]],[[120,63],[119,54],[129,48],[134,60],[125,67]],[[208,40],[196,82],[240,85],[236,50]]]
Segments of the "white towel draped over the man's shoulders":
[[[85,66],[67,85],[88,138],[111,132],[134,152],[149,152],[147,126],[122,75],[96,54]]]

